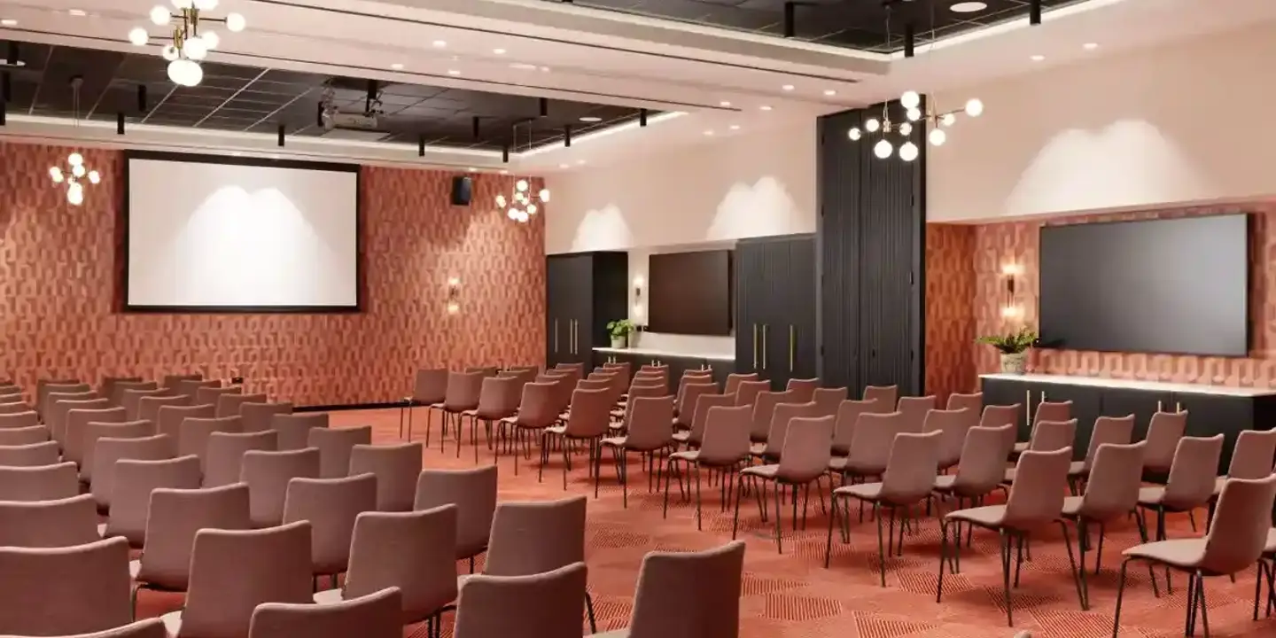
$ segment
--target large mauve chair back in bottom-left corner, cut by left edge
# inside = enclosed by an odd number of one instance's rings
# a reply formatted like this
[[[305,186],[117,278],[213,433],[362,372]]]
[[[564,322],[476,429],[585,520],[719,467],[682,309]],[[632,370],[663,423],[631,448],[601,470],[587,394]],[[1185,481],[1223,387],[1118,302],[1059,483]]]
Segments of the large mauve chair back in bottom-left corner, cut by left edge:
[[[57,549],[0,547],[0,574],[9,583],[0,596],[5,634],[74,635],[133,620],[129,544],[122,538]]]

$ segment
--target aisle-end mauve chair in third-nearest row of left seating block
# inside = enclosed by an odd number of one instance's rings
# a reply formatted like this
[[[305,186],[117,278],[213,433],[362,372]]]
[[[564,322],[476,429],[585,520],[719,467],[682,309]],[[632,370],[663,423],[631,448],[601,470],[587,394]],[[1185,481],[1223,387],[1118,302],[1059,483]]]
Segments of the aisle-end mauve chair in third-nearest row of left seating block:
[[[496,513],[496,466],[473,470],[425,470],[416,480],[412,509],[457,507],[457,560],[470,561],[487,551]]]

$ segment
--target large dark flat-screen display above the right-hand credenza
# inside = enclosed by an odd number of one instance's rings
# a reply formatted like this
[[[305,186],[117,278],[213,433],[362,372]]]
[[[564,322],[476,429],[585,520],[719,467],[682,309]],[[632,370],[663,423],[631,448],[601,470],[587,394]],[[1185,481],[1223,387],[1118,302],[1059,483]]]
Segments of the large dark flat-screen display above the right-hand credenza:
[[[1039,265],[1045,347],[1248,351],[1247,214],[1045,226]]]

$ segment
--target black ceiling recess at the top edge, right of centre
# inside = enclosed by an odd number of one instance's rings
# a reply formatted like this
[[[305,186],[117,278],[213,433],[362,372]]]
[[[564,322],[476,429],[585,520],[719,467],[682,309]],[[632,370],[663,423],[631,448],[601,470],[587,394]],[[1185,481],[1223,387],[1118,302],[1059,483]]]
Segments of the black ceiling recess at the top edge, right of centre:
[[[577,6],[607,9],[749,31],[783,37],[785,0],[545,0],[572,1]],[[954,13],[948,8],[962,0],[801,0],[795,9],[795,38],[865,51],[903,48],[903,27],[914,23],[916,43],[931,32],[938,38],[975,31],[1011,19],[1027,20],[1027,0],[983,0],[977,13]],[[1083,0],[1042,0],[1044,10]],[[887,46],[887,5],[891,6],[892,38]],[[933,5],[933,6],[931,6]]]

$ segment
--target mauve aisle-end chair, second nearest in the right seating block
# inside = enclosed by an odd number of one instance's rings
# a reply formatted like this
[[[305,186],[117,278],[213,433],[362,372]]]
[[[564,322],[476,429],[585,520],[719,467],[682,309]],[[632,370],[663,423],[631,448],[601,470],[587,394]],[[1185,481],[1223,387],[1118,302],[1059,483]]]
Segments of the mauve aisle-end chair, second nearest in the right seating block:
[[[942,519],[943,551],[939,558],[939,584],[935,600],[943,595],[944,563],[948,561],[949,535],[948,526],[956,521],[972,527],[983,527],[998,532],[1002,538],[1002,597],[1005,607],[1005,624],[1014,627],[1014,618],[1011,601],[1011,574],[1013,567],[1014,584],[1018,584],[1020,567],[1023,561],[1023,546],[1032,532],[1058,523],[1063,531],[1064,542],[1068,549],[1068,563],[1072,565],[1072,577],[1077,582],[1077,600],[1085,606],[1085,597],[1081,593],[1077,564],[1072,555],[1072,538],[1068,526],[1060,518],[1063,513],[1063,499],[1068,485],[1068,466],[1072,463],[1072,448],[1060,448],[1051,452],[1025,450],[1020,456],[1016,467],[1016,481],[1011,486],[1011,494],[1004,505],[986,505],[971,509],[958,509],[949,512]],[[960,532],[958,532],[960,533]],[[957,536],[952,536],[956,541]],[[953,549],[957,549],[953,542]],[[1018,547],[1018,551],[1016,551]],[[1016,559],[1017,556],[1017,559]],[[954,568],[958,569],[958,568]]]

